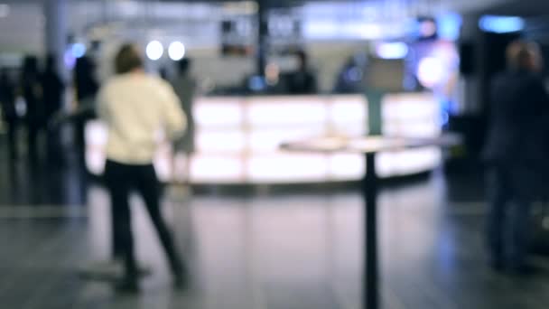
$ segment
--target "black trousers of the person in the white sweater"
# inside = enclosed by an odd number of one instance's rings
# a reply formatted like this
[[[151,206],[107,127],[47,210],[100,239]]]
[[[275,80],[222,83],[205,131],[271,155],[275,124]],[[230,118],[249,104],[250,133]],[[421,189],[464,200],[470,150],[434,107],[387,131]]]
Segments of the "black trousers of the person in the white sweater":
[[[122,248],[126,267],[126,280],[136,280],[137,278],[131,212],[128,204],[128,195],[133,189],[144,198],[146,209],[153,221],[154,228],[158,232],[173,275],[176,277],[181,276],[183,265],[175,248],[172,233],[163,220],[160,211],[160,185],[153,164],[130,165],[107,160],[105,180],[110,192],[113,225],[116,229],[116,231],[113,230],[113,236],[118,242],[115,249]]]

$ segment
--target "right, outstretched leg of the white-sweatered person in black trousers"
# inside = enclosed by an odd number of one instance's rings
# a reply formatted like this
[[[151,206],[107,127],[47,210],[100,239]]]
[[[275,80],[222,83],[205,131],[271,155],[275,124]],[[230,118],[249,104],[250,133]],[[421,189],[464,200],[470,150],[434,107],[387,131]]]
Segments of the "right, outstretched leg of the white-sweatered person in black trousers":
[[[185,269],[183,268],[184,265],[181,257],[173,242],[172,232],[168,229],[160,211],[161,188],[152,164],[141,168],[140,175],[137,179],[137,190],[144,198],[147,211],[151,216],[154,228],[158,232],[158,237],[162,242],[164,251],[170,262],[170,267],[172,268],[176,283],[180,284],[178,281],[182,280]]]

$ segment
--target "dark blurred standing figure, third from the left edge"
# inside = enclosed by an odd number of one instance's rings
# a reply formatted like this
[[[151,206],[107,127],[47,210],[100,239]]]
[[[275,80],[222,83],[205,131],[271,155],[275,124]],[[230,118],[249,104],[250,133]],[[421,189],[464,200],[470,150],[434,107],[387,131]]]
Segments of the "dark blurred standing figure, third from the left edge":
[[[57,71],[57,63],[54,55],[46,57],[45,69],[42,73],[42,98],[45,106],[46,123],[50,123],[52,117],[60,112],[63,105],[65,85]],[[59,127],[48,127],[47,132],[48,162],[60,164],[61,143]]]

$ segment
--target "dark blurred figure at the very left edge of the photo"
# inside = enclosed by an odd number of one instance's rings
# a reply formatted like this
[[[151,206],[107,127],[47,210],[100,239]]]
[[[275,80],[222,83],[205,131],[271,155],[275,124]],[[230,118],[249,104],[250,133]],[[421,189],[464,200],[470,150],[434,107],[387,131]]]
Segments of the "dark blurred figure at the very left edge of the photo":
[[[17,157],[17,109],[15,108],[15,85],[10,80],[7,69],[0,70],[0,103],[2,113],[7,126],[8,151],[13,161]]]

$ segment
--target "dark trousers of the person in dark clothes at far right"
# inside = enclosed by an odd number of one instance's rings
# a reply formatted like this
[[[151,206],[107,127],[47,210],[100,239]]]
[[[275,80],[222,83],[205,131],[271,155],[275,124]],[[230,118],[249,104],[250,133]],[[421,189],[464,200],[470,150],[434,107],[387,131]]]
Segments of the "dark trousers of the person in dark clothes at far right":
[[[494,267],[525,267],[531,201],[510,169],[495,166],[487,175],[488,241]]]

